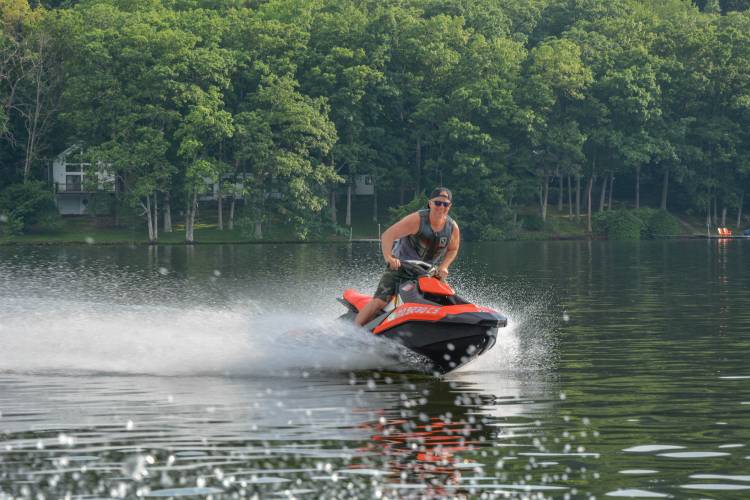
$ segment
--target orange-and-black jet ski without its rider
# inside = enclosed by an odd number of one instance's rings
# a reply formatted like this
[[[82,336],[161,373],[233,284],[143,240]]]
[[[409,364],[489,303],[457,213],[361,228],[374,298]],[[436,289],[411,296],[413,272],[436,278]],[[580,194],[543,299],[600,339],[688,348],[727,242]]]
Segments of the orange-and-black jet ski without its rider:
[[[495,345],[498,329],[508,324],[505,316],[456,295],[436,277],[435,266],[403,260],[401,269],[406,278],[396,295],[363,328],[426,358],[429,369],[440,374],[469,363]],[[341,318],[354,321],[372,296],[350,288],[338,300],[349,309]]]

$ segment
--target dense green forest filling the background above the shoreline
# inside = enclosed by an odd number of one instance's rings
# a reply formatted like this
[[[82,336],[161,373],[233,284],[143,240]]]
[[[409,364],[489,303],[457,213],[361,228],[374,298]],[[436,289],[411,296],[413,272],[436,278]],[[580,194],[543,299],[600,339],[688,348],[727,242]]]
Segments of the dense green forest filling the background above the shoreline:
[[[222,225],[345,226],[358,175],[375,213],[451,187],[472,239],[502,238],[529,207],[589,230],[613,206],[739,222],[748,7],[0,0],[0,226],[35,220],[73,144],[116,172],[115,211],[151,239],[179,218],[192,241],[208,181]]]

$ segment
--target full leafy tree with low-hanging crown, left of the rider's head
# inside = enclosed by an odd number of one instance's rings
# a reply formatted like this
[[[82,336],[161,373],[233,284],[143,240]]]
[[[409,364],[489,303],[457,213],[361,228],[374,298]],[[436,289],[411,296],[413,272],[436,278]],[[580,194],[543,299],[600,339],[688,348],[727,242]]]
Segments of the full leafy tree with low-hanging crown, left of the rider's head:
[[[319,187],[339,180],[323,160],[336,141],[328,104],[300,94],[290,77],[270,76],[248,96],[246,108],[235,117],[236,154],[248,164],[255,235],[262,238],[263,223],[276,215],[304,239],[311,215],[326,203]]]

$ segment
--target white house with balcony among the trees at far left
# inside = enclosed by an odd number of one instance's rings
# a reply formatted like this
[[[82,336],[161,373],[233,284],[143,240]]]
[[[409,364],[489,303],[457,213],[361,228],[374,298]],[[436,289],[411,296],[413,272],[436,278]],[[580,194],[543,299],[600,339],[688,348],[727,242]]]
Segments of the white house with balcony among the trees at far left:
[[[52,161],[52,184],[57,210],[62,215],[82,215],[95,192],[114,195],[115,175],[104,163],[92,174],[91,163],[83,161],[78,144],[69,147]],[[94,178],[92,178],[94,177]]]

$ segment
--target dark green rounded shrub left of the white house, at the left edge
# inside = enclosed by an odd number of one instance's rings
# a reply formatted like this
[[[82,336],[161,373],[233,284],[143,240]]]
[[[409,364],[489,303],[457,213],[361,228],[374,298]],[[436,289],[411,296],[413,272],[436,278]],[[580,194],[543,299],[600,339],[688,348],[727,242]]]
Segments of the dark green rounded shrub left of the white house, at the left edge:
[[[44,221],[50,224],[59,218],[55,196],[42,181],[12,184],[0,193],[0,213],[14,221],[14,232],[21,233],[34,224]]]

